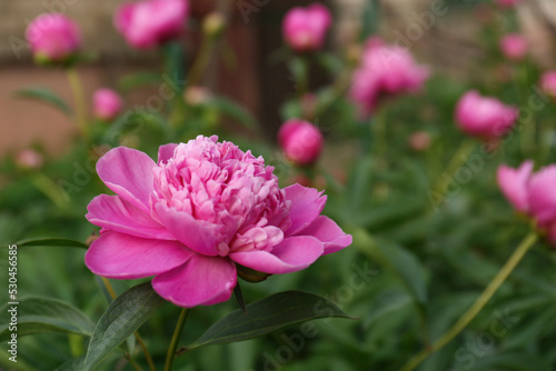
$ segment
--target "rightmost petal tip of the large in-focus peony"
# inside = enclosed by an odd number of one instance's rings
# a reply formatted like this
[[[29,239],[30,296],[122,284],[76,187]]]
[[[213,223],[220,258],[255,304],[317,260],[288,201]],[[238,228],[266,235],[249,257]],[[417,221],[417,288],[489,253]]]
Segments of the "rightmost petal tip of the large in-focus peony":
[[[312,235],[324,243],[324,254],[332,253],[351,244],[350,234],[344,233],[341,228],[328,217],[319,215],[315,221],[298,234]]]

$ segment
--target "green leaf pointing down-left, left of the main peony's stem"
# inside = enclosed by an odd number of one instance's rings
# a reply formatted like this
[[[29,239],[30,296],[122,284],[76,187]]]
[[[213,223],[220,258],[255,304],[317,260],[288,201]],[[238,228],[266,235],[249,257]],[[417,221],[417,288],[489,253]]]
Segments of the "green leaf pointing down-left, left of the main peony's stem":
[[[83,371],[91,370],[115,348],[139,329],[165,302],[150,282],[138,284],[116,298],[91,335]]]

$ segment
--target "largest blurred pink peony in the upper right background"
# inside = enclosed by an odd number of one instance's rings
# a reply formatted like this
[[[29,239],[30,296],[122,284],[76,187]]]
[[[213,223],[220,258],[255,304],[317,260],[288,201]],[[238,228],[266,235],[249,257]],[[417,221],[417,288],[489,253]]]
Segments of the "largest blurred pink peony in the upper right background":
[[[429,74],[429,69],[416,64],[406,49],[386,46],[374,37],[367,40],[354,72],[349,97],[359,107],[359,114],[367,117],[385,97],[419,91]]]

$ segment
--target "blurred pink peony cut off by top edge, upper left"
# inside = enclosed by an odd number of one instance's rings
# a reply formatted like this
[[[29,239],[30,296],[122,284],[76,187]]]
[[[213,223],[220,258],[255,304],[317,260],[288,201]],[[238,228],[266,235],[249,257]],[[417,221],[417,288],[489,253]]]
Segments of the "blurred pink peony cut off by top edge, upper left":
[[[188,12],[187,0],[126,2],[116,12],[115,26],[131,46],[148,49],[178,38]]]

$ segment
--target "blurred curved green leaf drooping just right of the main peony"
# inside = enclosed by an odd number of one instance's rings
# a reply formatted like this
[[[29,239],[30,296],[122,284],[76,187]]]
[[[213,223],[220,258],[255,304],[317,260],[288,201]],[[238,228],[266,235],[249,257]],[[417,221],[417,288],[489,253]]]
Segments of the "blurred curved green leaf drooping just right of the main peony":
[[[351,234],[355,245],[370,259],[391,269],[418,303],[427,302],[425,270],[410,251],[385,240],[376,240],[361,228],[355,229]]]

